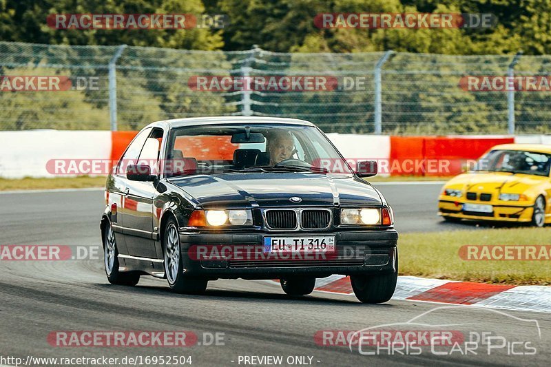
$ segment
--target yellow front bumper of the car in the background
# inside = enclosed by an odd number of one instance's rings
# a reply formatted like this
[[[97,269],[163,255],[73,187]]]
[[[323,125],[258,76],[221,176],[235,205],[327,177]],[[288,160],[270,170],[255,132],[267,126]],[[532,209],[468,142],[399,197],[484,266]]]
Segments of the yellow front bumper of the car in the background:
[[[492,213],[463,211],[464,204],[492,205]],[[438,214],[443,217],[470,220],[492,220],[499,222],[530,222],[534,212],[533,203],[526,202],[486,202],[469,200],[449,200],[440,198]]]

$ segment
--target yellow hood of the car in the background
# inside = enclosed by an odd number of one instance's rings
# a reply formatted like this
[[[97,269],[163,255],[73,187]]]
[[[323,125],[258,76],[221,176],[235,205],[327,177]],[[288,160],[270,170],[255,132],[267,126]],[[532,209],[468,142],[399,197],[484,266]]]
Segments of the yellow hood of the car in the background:
[[[508,172],[477,172],[461,174],[446,183],[450,189],[473,192],[523,193],[548,179],[544,176],[511,174]]]

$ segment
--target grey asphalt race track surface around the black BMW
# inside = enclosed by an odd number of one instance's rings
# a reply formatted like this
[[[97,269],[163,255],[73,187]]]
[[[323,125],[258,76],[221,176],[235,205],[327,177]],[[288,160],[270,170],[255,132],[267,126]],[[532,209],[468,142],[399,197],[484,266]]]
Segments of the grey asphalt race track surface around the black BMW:
[[[380,186],[395,209],[397,228],[402,232],[475,228],[472,224],[444,224],[437,218],[440,188],[434,184]],[[102,211],[102,191],[0,194],[0,244],[97,246]],[[152,277],[142,277],[136,287],[108,284],[102,256],[100,251],[98,259],[89,260],[1,261],[0,357],[185,355],[191,356],[191,366],[251,366],[245,364],[245,356],[267,355],[282,356],[282,366],[289,365],[289,356],[312,357],[313,366],[544,366],[551,358],[551,313],[499,313],[395,300],[364,305],[355,297],[317,291],[289,298],[277,284],[245,280],[210,282],[205,295],[176,295],[165,280]],[[430,326],[403,324],[424,313],[416,322]],[[464,355],[459,349],[452,355],[436,355],[430,346],[424,346],[421,355],[413,355],[415,350],[393,350],[391,354],[384,348],[378,355],[362,355],[357,346],[351,351],[344,346],[319,346],[314,340],[318,331],[357,331],[395,323],[402,324],[393,326],[401,331],[433,328],[471,333],[472,337],[485,332],[505,339],[495,340],[494,346],[503,342],[503,348],[492,349],[490,355],[487,344],[474,349],[477,355]],[[60,348],[47,342],[52,331],[191,331],[201,343],[208,333],[223,333],[224,345]],[[465,338],[463,342],[468,342]],[[532,347],[536,348],[534,355],[512,355],[533,353]],[[435,347],[435,351],[451,350]],[[1,364],[8,363],[0,359]]]

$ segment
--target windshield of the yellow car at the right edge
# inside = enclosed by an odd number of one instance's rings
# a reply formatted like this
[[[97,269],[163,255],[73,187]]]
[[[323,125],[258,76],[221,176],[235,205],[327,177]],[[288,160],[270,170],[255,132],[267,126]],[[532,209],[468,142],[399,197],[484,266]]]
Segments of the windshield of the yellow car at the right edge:
[[[534,151],[492,150],[480,158],[477,170],[549,176],[551,154]]]

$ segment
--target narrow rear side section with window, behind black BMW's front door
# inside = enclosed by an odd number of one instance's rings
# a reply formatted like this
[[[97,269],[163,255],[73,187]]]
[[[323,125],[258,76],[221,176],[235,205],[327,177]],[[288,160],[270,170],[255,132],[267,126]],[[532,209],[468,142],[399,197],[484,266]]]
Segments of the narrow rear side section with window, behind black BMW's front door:
[[[112,228],[115,233],[118,253],[123,255],[129,255],[129,251],[126,245],[126,235],[124,231],[124,212],[127,191],[129,190],[128,182],[126,178],[126,169],[128,162],[134,162],[138,159],[140,152],[145,144],[145,140],[151,133],[151,127],[144,129],[140,132],[134,140],[128,145],[121,159],[118,161],[116,168],[111,176],[109,182],[109,196],[108,200],[110,205],[115,205],[116,216],[112,216]]]

